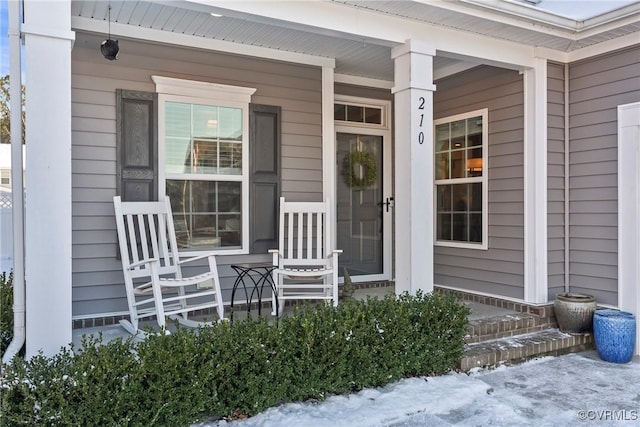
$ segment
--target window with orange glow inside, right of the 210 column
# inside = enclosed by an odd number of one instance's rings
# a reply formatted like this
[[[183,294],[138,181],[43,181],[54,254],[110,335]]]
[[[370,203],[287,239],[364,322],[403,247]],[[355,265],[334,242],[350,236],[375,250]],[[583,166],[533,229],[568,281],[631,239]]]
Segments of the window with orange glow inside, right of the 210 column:
[[[434,121],[437,245],[487,249],[487,115]]]

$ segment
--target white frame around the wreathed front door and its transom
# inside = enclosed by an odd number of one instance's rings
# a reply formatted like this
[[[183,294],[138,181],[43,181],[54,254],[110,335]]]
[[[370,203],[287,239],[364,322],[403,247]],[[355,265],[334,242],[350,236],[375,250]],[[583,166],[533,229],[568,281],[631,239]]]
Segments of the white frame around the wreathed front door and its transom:
[[[336,102],[353,103],[353,104],[367,104],[371,106],[382,107],[383,111],[383,125],[358,125],[357,123],[345,123],[336,122],[334,124],[335,135],[338,133],[353,133],[360,135],[375,135],[382,136],[382,191],[383,197],[393,197],[393,147],[391,139],[391,101],[385,101],[381,99],[360,98],[346,95],[335,95]],[[335,136],[334,135],[334,136]],[[334,138],[337,141],[337,138]],[[337,144],[337,142],[336,142]],[[337,145],[333,150],[337,149]],[[335,154],[334,154],[335,157]],[[338,173],[338,172],[336,172]],[[336,178],[337,179],[337,178]],[[334,197],[335,199],[335,197]],[[337,200],[333,201],[334,212],[337,213]],[[353,276],[351,279],[353,282],[371,282],[376,280],[391,280],[391,266],[392,266],[392,226],[393,226],[393,203],[389,205],[389,214],[382,215],[382,274],[367,274],[362,276]],[[338,216],[334,217],[334,229],[337,229]],[[338,248],[340,249],[340,248]],[[339,272],[342,280],[342,272]]]

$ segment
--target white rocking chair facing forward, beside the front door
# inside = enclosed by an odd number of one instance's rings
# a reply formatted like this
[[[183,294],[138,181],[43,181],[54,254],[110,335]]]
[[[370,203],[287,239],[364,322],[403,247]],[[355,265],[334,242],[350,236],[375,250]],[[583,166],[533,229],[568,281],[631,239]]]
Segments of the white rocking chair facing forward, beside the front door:
[[[331,246],[329,199],[285,202],[280,198],[279,249],[273,255],[278,315],[285,300],[327,300],[338,305],[338,255]],[[275,313],[274,313],[275,314]]]

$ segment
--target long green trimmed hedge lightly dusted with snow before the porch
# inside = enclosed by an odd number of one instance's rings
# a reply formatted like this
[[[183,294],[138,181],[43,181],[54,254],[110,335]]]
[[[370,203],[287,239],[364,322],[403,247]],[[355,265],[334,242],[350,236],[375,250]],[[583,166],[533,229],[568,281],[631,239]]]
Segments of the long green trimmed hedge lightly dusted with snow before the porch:
[[[468,314],[450,295],[418,293],[305,305],[276,326],[85,338],[81,350],[3,367],[0,425],[186,426],[442,374],[461,357]]]

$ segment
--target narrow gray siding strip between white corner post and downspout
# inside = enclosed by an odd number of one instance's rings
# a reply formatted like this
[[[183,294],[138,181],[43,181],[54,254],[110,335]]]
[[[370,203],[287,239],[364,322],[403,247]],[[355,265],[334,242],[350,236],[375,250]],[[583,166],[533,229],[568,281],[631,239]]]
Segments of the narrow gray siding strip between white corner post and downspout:
[[[564,65],[547,66],[547,280],[548,298],[564,291],[565,171]]]

